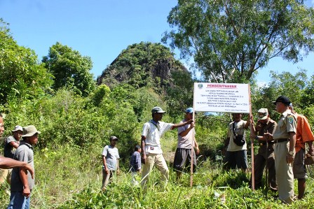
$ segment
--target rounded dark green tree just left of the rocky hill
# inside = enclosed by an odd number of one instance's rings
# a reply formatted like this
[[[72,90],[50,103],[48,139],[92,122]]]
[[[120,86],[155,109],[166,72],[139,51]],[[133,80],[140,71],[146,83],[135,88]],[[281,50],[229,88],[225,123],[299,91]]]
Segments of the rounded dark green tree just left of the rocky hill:
[[[90,57],[83,57],[78,51],[57,42],[50,47],[43,64],[55,76],[53,89],[62,87],[73,89],[77,94],[87,96],[95,89],[95,81],[90,70],[93,67]]]

